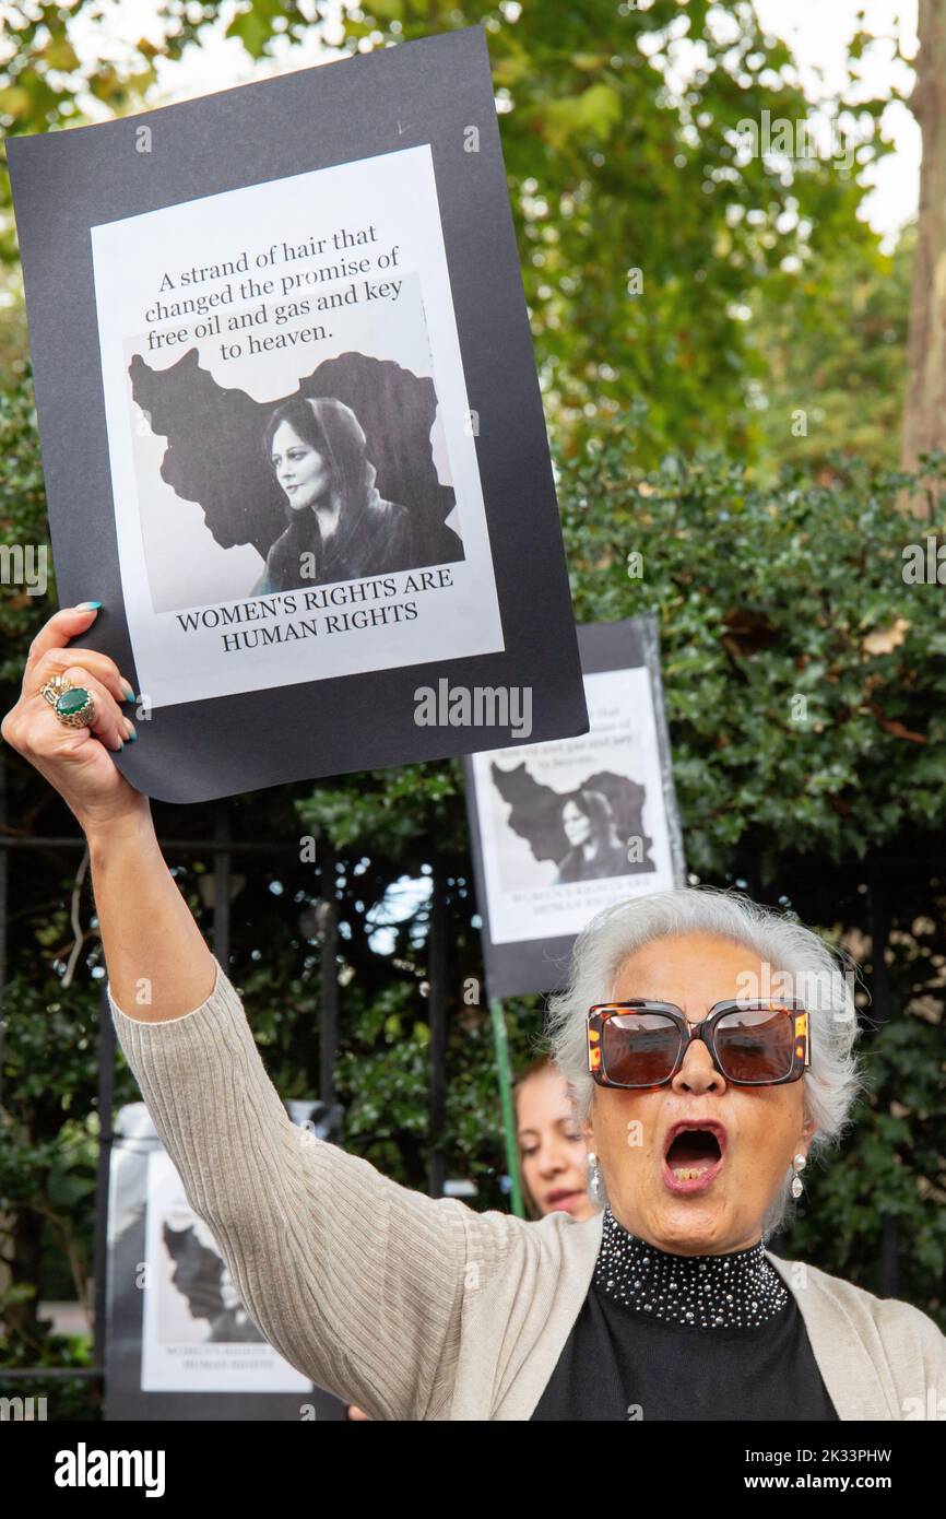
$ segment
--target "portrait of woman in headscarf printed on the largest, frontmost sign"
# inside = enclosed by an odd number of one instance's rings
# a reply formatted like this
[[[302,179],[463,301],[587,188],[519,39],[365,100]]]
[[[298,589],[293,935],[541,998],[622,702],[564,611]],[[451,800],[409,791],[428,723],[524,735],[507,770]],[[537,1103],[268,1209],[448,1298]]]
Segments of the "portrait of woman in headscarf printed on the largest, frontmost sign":
[[[364,430],[345,403],[334,396],[282,403],[266,427],[266,453],[285,497],[287,527],[252,595],[439,562],[425,551],[412,512],[386,501],[375,486]]]

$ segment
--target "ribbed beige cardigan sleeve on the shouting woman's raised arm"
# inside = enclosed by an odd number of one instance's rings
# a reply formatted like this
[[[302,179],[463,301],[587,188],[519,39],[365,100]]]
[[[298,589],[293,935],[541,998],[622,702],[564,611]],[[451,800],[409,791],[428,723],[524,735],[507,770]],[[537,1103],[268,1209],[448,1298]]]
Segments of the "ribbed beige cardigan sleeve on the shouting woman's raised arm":
[[[293,1124],[243,1003],[213,960],[182,1018],[128,1016],[121,1048],[155,1127],[248,1311],[281,1355],[374,1419],[449,1401],[469,1240],[481,1215],[434,1202]],[[492,1235],[498,1265],[507,1241]]]

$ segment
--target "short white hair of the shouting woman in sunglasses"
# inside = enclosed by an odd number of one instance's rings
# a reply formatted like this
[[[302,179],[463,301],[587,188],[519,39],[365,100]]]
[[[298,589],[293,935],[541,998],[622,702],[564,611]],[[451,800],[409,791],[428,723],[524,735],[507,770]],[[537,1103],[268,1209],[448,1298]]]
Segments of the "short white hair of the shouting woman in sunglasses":
[[[850,1109],[864,1088],[853,1053],[858,1037],[852,984],[856,968],[803,924],[746,896],[709,886],[688,886],[615,902],[577,936],[568,984],[548,1001],[542,1042],[571,1085],[580,1121],[588,1120],[594,1095],[594,1078],[588,1071],[588,1009],[613,1001],[615,983],[627,955],[671,934],[714,934],[752,949],[770,977],[770,989],[739,995],[805,1001],[811,1066],[802,1077],[802,1089],[805,1118],[815,1123],[808,1159],[820,1159],[850,1127]],[[787,1171],[770,1200],[762,1218],[764,1238],[785,1221],[793,1203],[791,1179],[791,1171]]]

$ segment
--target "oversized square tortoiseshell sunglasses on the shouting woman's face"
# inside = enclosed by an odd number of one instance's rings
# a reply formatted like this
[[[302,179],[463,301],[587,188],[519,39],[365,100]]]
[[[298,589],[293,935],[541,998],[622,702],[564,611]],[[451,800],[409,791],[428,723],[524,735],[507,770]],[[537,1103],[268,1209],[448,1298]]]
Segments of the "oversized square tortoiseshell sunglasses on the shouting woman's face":
[[[588,1069],[598,1086],[667,1086],[691,1039],[735,1086],[797,1082],[811,1065],[803,1003],[735,998],[691,1022],[674,1003],[597,1003],[588,1012]]]

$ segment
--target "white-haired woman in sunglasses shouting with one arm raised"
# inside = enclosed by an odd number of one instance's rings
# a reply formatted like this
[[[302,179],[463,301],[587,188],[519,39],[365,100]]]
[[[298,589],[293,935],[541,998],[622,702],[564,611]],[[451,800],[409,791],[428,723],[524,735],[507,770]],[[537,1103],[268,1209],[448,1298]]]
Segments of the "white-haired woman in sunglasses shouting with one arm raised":
[[[287,1116],[147,799],[108,753],[129,735],[128,685],[65,647],[94,609],[50,618],[0,732],[87,834],[118,1039],[287,1361],[372,1419],[926,1416],[946,1387],[932,1320],[765,1247],[859,1085],[849,990],[811,931],[706,890],[585,930],[550,1036],[595,1154],[591,1218],[399,1186]]]

